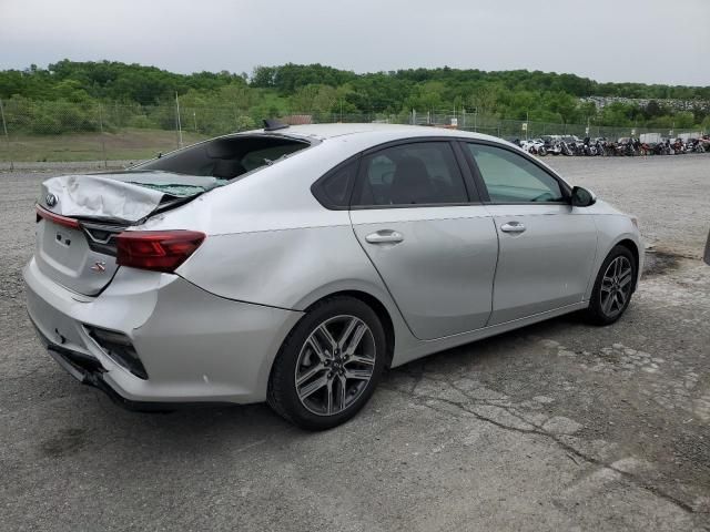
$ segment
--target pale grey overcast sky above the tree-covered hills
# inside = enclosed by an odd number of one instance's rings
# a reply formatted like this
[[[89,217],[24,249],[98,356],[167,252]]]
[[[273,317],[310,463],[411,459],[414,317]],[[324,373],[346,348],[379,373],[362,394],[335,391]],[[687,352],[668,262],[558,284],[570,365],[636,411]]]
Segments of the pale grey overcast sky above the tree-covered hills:
[[[0,70],[541,70],[710,85],[710,0],[0,0]]]

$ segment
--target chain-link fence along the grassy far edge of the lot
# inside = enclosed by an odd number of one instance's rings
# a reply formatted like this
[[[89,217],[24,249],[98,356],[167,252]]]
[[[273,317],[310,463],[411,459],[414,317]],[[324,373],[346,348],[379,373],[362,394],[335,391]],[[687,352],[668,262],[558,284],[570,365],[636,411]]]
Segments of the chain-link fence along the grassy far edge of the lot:
[[[140,161],[211,136],[260,127],[262,117],[231,104],[181,105],[175,101],[149,106],[12,99],[0,102],[0,167],[12,167],[19,162],[101,161],[106,164],[109,161]],[[358,114],[293,111],[281,119],[290,124],[376,122],[437,125],[505,139],[577,135],[617,140],[642,133],[674,137],[691,132],[507,120],[466,110]]]

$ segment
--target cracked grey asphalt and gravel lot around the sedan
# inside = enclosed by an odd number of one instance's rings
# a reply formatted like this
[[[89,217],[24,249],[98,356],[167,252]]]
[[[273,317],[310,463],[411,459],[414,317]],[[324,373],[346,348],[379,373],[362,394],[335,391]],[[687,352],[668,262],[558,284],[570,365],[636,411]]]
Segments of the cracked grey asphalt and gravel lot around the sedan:
[[[710,530],[710,154],[546,162],[639,216],[655,253],[625,317],[397,368],[322,433],[263,405],[126,412],[73,381],[20,282],[57,174],[0,173],[0,529]]]

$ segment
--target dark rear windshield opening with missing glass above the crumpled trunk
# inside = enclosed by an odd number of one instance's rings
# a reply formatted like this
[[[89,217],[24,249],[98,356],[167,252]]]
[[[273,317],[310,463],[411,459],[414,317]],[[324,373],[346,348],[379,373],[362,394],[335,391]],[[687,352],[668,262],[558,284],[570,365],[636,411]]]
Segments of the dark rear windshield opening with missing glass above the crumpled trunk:
[[[284,136],[221,137],[149,161],[131,170],[156,170],[233,180],[310,145],[308,142]]]

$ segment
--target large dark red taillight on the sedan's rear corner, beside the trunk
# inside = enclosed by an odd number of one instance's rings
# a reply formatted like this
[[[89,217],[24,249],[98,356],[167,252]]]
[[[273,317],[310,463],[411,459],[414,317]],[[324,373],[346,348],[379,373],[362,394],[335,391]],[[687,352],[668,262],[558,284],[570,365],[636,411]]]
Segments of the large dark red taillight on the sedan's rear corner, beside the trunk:
[[[196,231],[124,231],[116,238],[121,266],[172,273],[192,255],[204,233]]]

